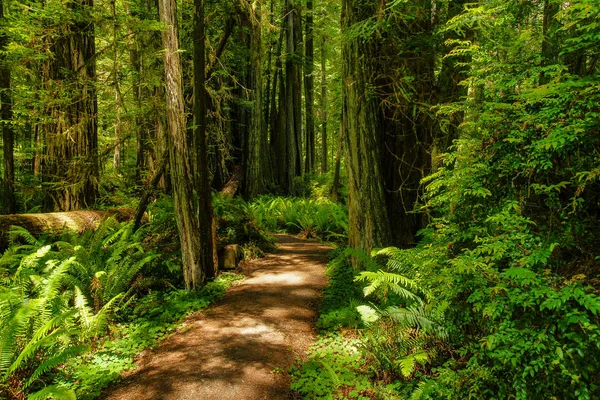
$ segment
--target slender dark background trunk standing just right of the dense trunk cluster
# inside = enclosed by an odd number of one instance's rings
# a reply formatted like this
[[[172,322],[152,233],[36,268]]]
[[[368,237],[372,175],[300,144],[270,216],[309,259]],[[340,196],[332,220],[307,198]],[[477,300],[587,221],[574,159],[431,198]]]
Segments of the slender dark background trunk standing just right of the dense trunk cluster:
[[[306,1],[306,35],[304,45],[304,100],[306,104],[306,163],[304,171],[311,173],[315,169],[315,119],[314,119],[314,96],[315,78],[314,72],[314,40],[313,40],[313,1]]]

